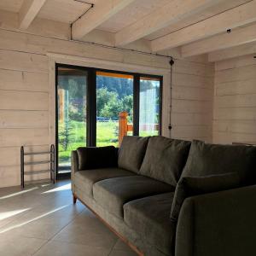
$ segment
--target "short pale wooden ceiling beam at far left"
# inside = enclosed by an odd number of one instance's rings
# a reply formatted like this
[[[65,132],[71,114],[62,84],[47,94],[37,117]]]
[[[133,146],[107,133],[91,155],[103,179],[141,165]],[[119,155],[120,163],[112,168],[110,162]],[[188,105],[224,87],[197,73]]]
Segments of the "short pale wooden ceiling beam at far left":
[[[38,15],[46,0],[23,0],[20,7],[20,29],[26,30]]]

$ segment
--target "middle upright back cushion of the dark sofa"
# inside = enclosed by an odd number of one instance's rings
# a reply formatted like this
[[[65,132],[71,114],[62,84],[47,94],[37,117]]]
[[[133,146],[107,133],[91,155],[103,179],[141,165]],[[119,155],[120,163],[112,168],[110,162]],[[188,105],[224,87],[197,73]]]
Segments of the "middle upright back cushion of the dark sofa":
[[[167,137],[150,137],[140,174],[177,185],[188,158],[190,142]]]

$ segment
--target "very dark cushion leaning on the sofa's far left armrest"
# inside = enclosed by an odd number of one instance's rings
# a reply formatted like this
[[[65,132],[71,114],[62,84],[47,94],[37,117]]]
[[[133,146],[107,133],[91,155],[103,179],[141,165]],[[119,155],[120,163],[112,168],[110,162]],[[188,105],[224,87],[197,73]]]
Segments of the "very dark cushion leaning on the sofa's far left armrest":
[[[117,148],[108,147],[80,147],[79,170],[109,168],[117,166]]]

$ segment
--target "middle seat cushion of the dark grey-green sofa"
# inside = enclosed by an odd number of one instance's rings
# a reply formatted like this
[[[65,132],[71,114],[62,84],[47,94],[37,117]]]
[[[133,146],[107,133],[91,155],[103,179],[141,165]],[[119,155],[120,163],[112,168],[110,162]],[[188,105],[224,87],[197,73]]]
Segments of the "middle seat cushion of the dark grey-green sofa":
[[[174,189],[171,185],[161,183],[150,177],[114,177],[95,183],[93,185],[93,196],[96,202],[108,212],[113,213],[116,217],[123,218],[123,205],[126,202],[148,195],[171,192]]]

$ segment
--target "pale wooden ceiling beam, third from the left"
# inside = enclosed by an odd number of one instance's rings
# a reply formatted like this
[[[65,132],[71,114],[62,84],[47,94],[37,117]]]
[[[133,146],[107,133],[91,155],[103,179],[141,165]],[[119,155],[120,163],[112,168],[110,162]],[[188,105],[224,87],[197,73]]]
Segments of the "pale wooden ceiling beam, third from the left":
[[[154,10],[141,20],[137,20],[131,26],[126,26],[115,34],[115,45],[121,46],[130,44],[140,38],[160,30],[163,27],[171,26],[178,20],[201,13],[204,9],[216,5],[220,0],[173,0]]]

